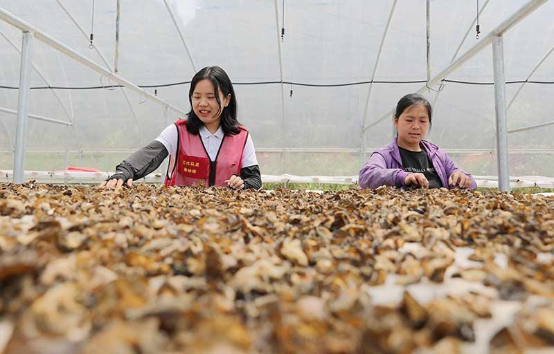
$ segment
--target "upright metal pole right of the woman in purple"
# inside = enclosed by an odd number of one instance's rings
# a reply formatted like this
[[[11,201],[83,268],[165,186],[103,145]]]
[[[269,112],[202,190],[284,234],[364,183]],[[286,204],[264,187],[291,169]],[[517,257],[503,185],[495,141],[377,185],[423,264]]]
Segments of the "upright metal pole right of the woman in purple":
[[[492,37],[494,66],[494,111],[497,117],[498,188],[510,191],[508,165],[508,122],[506,120],[506,77],[504,77],[504,45],[502,35]]]

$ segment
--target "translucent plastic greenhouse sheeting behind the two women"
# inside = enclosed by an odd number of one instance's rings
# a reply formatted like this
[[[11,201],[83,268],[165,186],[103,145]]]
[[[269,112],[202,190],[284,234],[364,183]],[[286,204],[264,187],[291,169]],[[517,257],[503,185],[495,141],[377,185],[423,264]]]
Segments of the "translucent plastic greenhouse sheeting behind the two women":
[[[283,0],[276,4],[271,0],[168,0],[191,62],[163,0],[122,0],[118,75],[141,86],[159,85],[145,90],[157,90],[162,100],[188,111],[189,85],[163,85],[190,81],[195,68],[222,66],[236,83],[239,120],[260,151],[262,173],[355,175],[363,163],[362,138],[370,149],[393,137],[391,117],[362,134],[364,112],[366,124],[374,122],[393,109],[402,95],[423,86],[390,82],[427,77],[425,1],[397,1],[378,62],[394,1],[284,1],[283,20]],[[480,1],[480,6],[484,3]],[[488,1],[479,18],[481,38],[524,3]],[[94,62],[113,68],[116,1],[96,0],[94,12],[92,4],[92,0],[0,0],[1,8]],[[89,49],[92,13],[94,44],[101,55]],[[508,82],[526,80],[554,46],[553,13],[554,1],[547,1],[504,35]],[[431,76],[452,62],[460,44],[458,54],[477,43],[474,26],[462,42],[475,16],[476,1],[431,1]],[[282,41],[281,27],[285,28]],[[19,85],[20,47],[21,31],[0,22],[0,86]],[[107,78],[39,41],[33,44],[33,64],[36,70],[31,86],[100,88],[31,91],[30,113],[75,125],[68,132],[60,125],[30,120],[26,169],[63,169],[67,146],[72,151],[69,165],[111,171],[125,158],[121,151],[148,144],[167,125],[161,106],[127,89],[110,88]],[[368,95],[367,82],[375,66],[377,83]],[[429,140],[445,149],[462,149],[463,153],[452,155],[461,167],[475,174],[496,174],[490,46],[447,79],[482,84],[447,82],[440,94],[426,93],[436,102]],[[296,84],[281,85],[281,80]],[[554,54],[530,80],[554,82]],[[266,84],[244,85],[256,82]],[[366,83],[301,85],[357,82]],[[508,103],[520,85],[507,85]],[[17,90],[0,88],[0,106],[17,109],[17,97]],[[554,84],[525,84],[508,110],[508,129],[554,120],[554,100],[546,97],[554,97]],[[168,121],[179,118],[172,113]],[[3,169],[12,169],[16,119],[15,115],[0,113]],[[510,173],[554,176],[554,164],[545,163],[554,153],[553,133],[554,125],[550,125],[510,134]]]

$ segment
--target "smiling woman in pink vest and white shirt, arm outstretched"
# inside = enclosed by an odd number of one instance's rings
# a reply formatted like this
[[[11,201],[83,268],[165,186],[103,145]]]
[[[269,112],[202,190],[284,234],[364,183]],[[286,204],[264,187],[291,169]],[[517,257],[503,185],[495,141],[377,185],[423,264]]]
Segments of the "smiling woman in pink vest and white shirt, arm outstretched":
[[[193,77],[190,112],[164,129],[146,147],[116,167],[100,187],[115,188],[143,178],[169,155],[166,186],[205,183],[233,189],[259,189],[260,168],[252,138],[237,120],[237,99],[229,76],[206,66]]]

